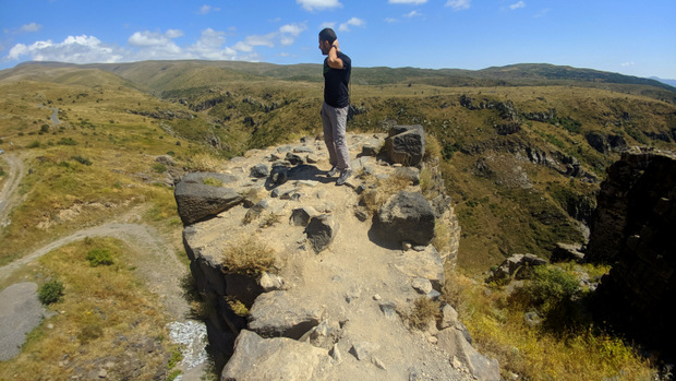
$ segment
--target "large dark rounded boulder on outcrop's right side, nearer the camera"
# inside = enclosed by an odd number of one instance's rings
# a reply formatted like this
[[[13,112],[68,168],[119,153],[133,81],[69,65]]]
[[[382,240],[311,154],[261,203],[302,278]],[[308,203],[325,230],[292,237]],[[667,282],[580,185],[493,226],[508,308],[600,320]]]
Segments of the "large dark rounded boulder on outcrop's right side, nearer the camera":
[[[434,238],[435,215],[419,192],[400,191],[378,211],[373,228],[384,239],[426,246]]]

